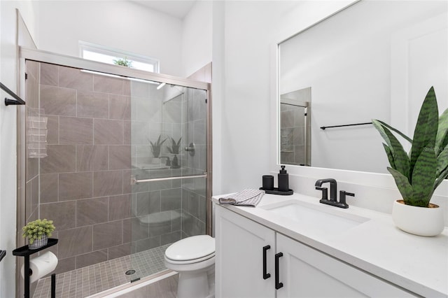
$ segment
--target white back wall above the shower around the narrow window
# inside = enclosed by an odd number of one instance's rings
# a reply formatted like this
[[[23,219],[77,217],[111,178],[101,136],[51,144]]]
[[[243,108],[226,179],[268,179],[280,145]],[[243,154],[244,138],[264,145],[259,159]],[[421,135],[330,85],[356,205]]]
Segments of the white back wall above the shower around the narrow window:
[[[181,76],[182,21],[131,1],[39,1],[38,48],[79,56],[78,41],[160,60],[160,73]]]

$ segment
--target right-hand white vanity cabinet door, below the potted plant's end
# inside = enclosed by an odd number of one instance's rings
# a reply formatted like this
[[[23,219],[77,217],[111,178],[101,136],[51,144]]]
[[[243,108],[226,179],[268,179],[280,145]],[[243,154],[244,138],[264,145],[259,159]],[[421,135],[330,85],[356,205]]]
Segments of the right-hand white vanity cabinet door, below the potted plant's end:
[[[334,257],[276,234],[279,281],[284,297],[414,297],[409,292]]]

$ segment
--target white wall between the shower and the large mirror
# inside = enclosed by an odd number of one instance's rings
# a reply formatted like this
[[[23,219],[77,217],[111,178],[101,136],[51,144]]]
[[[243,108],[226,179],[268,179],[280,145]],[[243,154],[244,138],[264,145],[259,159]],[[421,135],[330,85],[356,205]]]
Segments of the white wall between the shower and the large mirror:
[[[349,2],[225,2],[222,166],[214,166],[215,175],[221,176],[221,192],[260,187],[261,176],[269,173],[275,159],[275,43]]]

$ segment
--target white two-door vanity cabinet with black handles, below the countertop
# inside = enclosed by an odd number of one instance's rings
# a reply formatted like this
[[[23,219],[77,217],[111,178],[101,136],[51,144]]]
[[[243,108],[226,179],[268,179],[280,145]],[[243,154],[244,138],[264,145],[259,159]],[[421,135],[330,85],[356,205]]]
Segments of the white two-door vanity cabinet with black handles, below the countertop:
[[[414,297],[221,206],[215,220],[217,298]]]

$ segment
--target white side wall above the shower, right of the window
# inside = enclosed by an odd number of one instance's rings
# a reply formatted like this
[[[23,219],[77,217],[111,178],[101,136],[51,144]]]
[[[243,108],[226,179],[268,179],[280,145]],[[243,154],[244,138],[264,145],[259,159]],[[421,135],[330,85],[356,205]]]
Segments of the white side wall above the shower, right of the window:
[[[183,19],[182,75],[192,73],[211,62],[212,1],[197,1]]]

